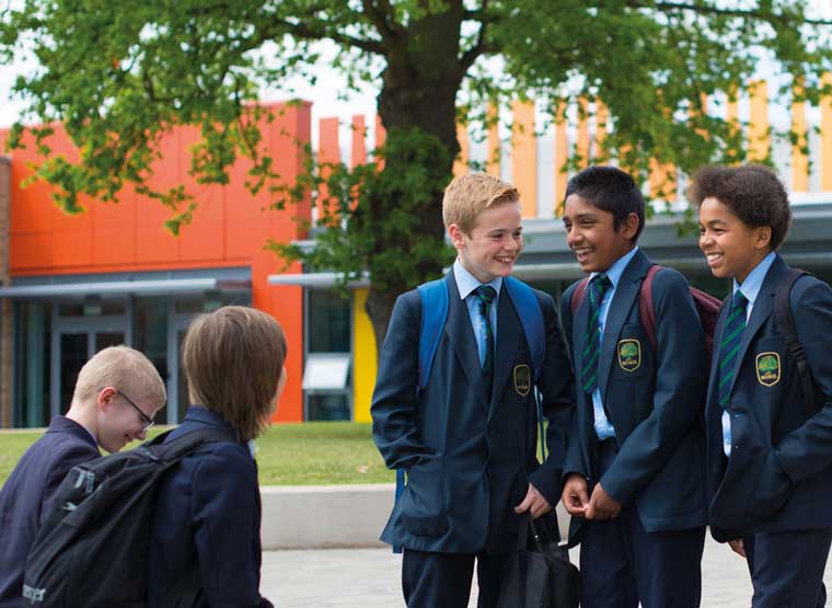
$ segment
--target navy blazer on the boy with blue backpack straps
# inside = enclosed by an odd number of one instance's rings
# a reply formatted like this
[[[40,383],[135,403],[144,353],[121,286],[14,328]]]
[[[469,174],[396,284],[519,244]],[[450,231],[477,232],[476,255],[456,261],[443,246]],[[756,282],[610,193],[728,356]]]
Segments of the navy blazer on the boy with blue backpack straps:
[[[569,362],[554,301],[535,290],[546,328],[539,388],[550,422],[548,458],[539,464],[534,391],[523,381],[533,378],[532,360],[505,286],[497,308],[489,395],[453,272],[444,280],[448,321],[427,388],[418,392],[421,299],[417,290],[396,300],[381,349],[371,408],[373,438],[388,467],[404,468],[408,478],[381,539],[419,551],[509,552],[525,540],[521,532],[527,517],[513,507],[525,496],[529,482],[553,507],[559,498],[571,410]]]

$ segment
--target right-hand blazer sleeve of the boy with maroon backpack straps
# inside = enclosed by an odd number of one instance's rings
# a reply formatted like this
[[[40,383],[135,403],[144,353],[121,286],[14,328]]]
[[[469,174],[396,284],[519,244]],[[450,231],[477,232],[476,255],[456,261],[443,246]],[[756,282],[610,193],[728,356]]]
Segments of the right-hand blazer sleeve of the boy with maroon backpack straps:
[[[652,410],[626,438],[600,482],[632,504],[696,424],[705,399],[705,339],[687,282],[666,268],[652,284],[656,376]]]

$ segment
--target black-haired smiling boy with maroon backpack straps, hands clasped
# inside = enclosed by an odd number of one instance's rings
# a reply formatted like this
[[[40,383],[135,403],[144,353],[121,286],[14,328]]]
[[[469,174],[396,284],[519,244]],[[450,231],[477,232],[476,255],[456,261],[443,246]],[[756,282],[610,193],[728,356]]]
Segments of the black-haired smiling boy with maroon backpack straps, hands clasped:
[[[686,280],[665,268],[651,346],[638,305],[652,265],[637,246],[644,217],[625,172],[591,167],[569,180],[566,240],[590,280],[574,314],[577,283],[562,301],[577,401],[563,501],[581,543],[585,608],[700,605],[704,339]]]

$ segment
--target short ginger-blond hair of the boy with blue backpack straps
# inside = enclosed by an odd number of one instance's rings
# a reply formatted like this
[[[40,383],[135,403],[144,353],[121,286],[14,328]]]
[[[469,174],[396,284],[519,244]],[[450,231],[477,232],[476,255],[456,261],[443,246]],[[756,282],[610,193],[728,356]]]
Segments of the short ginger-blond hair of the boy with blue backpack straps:
[[[489,207],[520,200],[517,188],[487,173],[467,173],[454,179],[444,188],[442,220],[444,228],[455,223],[465,234],[476,223],[476,217]]]

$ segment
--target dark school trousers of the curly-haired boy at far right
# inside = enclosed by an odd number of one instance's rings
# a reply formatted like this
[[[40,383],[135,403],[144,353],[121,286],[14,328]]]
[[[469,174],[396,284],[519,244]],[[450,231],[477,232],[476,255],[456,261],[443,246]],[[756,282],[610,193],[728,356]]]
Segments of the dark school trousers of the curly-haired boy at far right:
[[[752,608],[822,608],[823,570],[832,530],[755,532],[742,537],[751,583]]]

